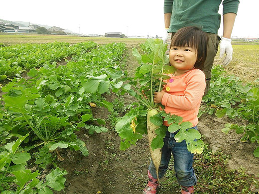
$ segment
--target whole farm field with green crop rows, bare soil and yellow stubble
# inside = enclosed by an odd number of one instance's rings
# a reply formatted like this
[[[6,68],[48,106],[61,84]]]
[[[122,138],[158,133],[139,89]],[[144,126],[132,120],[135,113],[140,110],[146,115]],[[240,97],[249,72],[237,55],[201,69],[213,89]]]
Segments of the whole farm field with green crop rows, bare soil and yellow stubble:
[[[144,42],[0,35],[0,45],[10,46],[0,58],[1,194],[141,193],[150,162],[147,135],[122,151],[116,124],[138,108],[130,86],[139,66],[132,48],[144,52]],[[35,44],[15,46],[20,43]],[[200,111],[205,149],[194,159],[197,194],[259,192],[259,44],[233,41],[233,49],[225,69],[217,55]],[[172,160],[158,194],[179,189]]]

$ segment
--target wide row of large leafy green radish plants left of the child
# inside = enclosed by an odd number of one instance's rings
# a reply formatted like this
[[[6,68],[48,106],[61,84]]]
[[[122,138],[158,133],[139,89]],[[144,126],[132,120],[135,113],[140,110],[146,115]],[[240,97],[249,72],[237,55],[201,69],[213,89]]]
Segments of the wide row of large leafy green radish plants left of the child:
[[[65,66],[45,61],[39,69],[27,73],[30,79],[13,78],[2,87],[0,99],[0,182],[1,194],[52,194],[64,188],[66,171],[55,163],[57,148],[70,148],[88,155],[85,142],[75,131],[89,134],[106,132],[105,120],[95,118],[91,106],[113,104],[102,94],[125,93],[124,72],[120,68],[125,44],[96,46],[84,43],[84,48]],[[34,153],[33,155],[31,153]],[[27,168],[34,161],[35,172]],[[42,169],[55,167],[44,180]],[[15,183],[16,188],[10,188]]]

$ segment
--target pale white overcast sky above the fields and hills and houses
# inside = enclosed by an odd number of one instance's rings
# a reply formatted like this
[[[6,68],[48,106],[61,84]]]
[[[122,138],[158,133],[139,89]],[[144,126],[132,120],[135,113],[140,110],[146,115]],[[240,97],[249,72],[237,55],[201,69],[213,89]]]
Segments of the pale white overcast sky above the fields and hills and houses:
[[[115,31],[162,36],[164,31],[163,0],[2,0],[0,6],[0,19],[58,26],[81,34]],[[232,36],[259,37],[258,10],[259,0],[240,0]]]

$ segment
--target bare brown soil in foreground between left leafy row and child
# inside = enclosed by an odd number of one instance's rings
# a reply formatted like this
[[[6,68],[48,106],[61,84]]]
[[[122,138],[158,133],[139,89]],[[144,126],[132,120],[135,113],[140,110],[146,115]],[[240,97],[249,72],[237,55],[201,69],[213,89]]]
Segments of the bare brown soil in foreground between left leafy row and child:
[[[68,151],[58,164],[68,172],[65,194],[138,194],[132,182],[143,179],[148,167],[148,147],[145,138],[136,147],[120,151],[120,137],[110,131],[87,138],[86,131],[77,135],[86,142],[89,156]],[[143,181],[144,184],[144,181]]]

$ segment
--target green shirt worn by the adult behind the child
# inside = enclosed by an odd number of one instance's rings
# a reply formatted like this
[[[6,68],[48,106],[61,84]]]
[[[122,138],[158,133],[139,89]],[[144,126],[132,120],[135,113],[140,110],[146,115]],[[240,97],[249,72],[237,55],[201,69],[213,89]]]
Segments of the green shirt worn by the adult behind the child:
[[[222,0],[164,0],[164,13],[172,13],[168,32],[185,26],[198,26],[204,32],[218,34]],[[223,15],[238,12],[239,0],[223,0]]]

